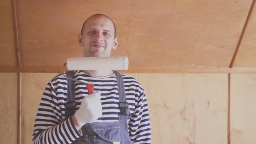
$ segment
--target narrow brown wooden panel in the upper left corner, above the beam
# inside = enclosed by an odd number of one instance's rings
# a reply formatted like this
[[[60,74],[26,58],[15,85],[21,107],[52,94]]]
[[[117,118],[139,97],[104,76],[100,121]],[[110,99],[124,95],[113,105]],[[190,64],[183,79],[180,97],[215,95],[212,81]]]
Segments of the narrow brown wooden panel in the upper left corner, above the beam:
[[[11,0],[1,0],[0,13],[0,65],[16,66],[17,60]]]

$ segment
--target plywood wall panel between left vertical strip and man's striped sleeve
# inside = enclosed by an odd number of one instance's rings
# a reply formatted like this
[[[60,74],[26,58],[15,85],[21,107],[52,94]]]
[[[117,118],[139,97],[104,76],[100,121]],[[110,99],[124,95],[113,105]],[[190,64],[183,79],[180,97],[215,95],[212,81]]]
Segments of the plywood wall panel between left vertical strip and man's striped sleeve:
[[[32,144],[35,116],[48,81],[56,74],[24,73],[22,77],[22,144]]]

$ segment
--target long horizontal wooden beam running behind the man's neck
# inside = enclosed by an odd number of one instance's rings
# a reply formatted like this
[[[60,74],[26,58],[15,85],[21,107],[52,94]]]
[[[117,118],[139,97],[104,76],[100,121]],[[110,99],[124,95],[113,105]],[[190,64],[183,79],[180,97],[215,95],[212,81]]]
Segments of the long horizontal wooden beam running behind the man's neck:
[[[67,71],[67,67],[65,68]],[[62,73],[63,67],[0,66],[0,72]],[[256,67],[129,67],[123,73],[256,73]]]

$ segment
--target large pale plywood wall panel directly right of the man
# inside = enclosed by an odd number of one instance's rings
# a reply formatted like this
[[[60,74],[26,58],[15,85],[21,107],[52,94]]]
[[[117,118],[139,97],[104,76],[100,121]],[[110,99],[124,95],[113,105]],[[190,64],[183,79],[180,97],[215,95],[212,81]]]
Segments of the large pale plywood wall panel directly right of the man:
[[[147,93],[152,144],[227,144],[227,74],[132,74]]]

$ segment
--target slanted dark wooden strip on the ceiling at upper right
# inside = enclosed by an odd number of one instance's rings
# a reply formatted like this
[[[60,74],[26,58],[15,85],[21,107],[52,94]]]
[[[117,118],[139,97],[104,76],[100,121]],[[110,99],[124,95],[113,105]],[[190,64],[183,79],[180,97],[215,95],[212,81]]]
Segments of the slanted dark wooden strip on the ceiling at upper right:
[[[234,53],[234,55],[233,55],[233,57],[232,57],[232,60],[231,60],[231,62],[230,62],[230,64],[229,64],[229,68],[232,68],[233,65],[234,65],[234,63],[235,63],[235,58],[236,58],[236,56],[237,56],[238,50],[239,50],[240,45],[241,45],[241,42],[242,42],[242,40],[243,40],[243,36],[244,36],[245,30],[246,30],[247,25],[248,25],[248,23],[249,23],[249,20],[250,20],[250,18],[251,18],[251,12],[253,11],[254,3],[255,3],[255,0],[253,0],[253,2],[252,2],[252,4],[251,4],[251,8],[250,8],[249,13],[248,13],[248,15],[247,15],[247,18],[246,18],[245,24],[244,24],[244,26],[243,26],[243,30],[242,30],[242,33],[241,33],[241,35],[240,35],[240,38],[239,38],[239,40],[238,40],[237,47],[236,47],[236,49],[235,49],[235,53]]]

